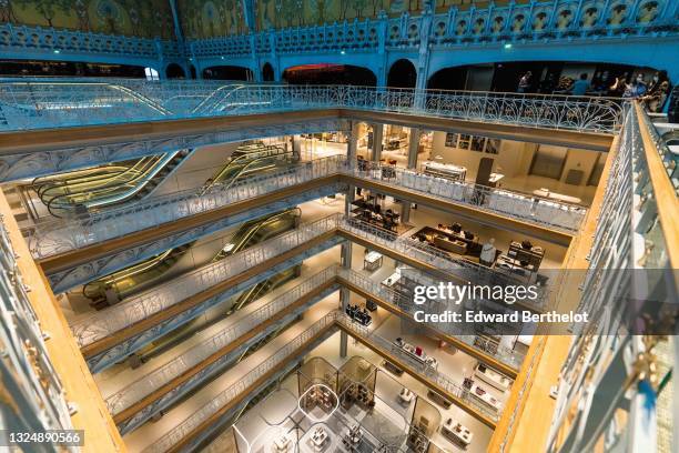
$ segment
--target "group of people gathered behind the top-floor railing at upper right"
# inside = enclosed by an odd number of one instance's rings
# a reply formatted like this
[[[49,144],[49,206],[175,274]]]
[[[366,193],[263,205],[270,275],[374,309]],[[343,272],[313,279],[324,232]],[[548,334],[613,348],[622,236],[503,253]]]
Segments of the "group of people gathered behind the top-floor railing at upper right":
[[[578,80],[568,80],[568,87],[563,87],[564,81],[556,82],[553,73],[548,74],[545,80],[539,83],[539,91],[545,93],[565,92],[572,95],[586,95],[588,92],[605,93],[609,97],[622,99],[639,99],[648,111],[661,112],[669,97],[671,84],[667,76],[667,71],[658,71],[652,79],[647,82],[642,73],[637,73],[635,78],[629,80],[629,73],[615,78],[615,83],[609,85],[609,73],[604,71],[599,76],[595,76],[589,80],[589,74],[581,73]],[[533,87],[533,73],[527,71],[519,79],[517,92],[526,93]]]

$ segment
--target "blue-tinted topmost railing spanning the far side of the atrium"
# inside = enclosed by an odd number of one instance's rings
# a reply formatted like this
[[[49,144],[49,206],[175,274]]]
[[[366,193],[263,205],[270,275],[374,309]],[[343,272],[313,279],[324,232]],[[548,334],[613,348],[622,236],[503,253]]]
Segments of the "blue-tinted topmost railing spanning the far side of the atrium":
[[[0,83],[0,130],[338,108],[602,133],[618,129],[621,112],[617,99],[557,94],[196,81]]]

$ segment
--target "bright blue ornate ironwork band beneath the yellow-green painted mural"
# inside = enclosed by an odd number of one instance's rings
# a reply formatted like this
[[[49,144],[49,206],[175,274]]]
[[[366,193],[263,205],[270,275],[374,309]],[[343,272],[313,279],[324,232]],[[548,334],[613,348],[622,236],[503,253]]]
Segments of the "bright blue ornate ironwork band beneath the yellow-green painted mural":
[[[677,6],[671,0],[574,2],[530,1],[459,9],[422,16],[377,12],[364,20],[265,30],[250,34],[178,41],[91,33],[53,28],[0,24],[0,51],[116,57],[119,62],[159,67],[183,56],[194,59],[267,57],[272,53],[366,52],[414,49],[432,44],[446,49],[493,42],[567,42],[574,40],[663,37],[677,31]]]

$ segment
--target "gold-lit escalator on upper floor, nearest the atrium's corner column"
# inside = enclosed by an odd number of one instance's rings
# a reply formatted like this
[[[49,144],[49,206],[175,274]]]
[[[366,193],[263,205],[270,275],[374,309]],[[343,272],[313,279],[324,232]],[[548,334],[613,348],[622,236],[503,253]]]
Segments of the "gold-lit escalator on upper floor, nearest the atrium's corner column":
[[[297,157],[287,147],[254,142],[239,147],[226,164],[207,180],[202,193],[214,187],[229,189],[239,181],[294,164]]]

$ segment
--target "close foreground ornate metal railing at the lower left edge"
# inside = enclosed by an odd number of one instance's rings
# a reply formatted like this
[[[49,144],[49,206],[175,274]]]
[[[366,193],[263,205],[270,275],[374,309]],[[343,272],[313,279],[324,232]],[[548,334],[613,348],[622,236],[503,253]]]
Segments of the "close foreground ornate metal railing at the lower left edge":
[[[16,258],[0,218],[0,429],[13,433],[72,430],[64,389]]]

